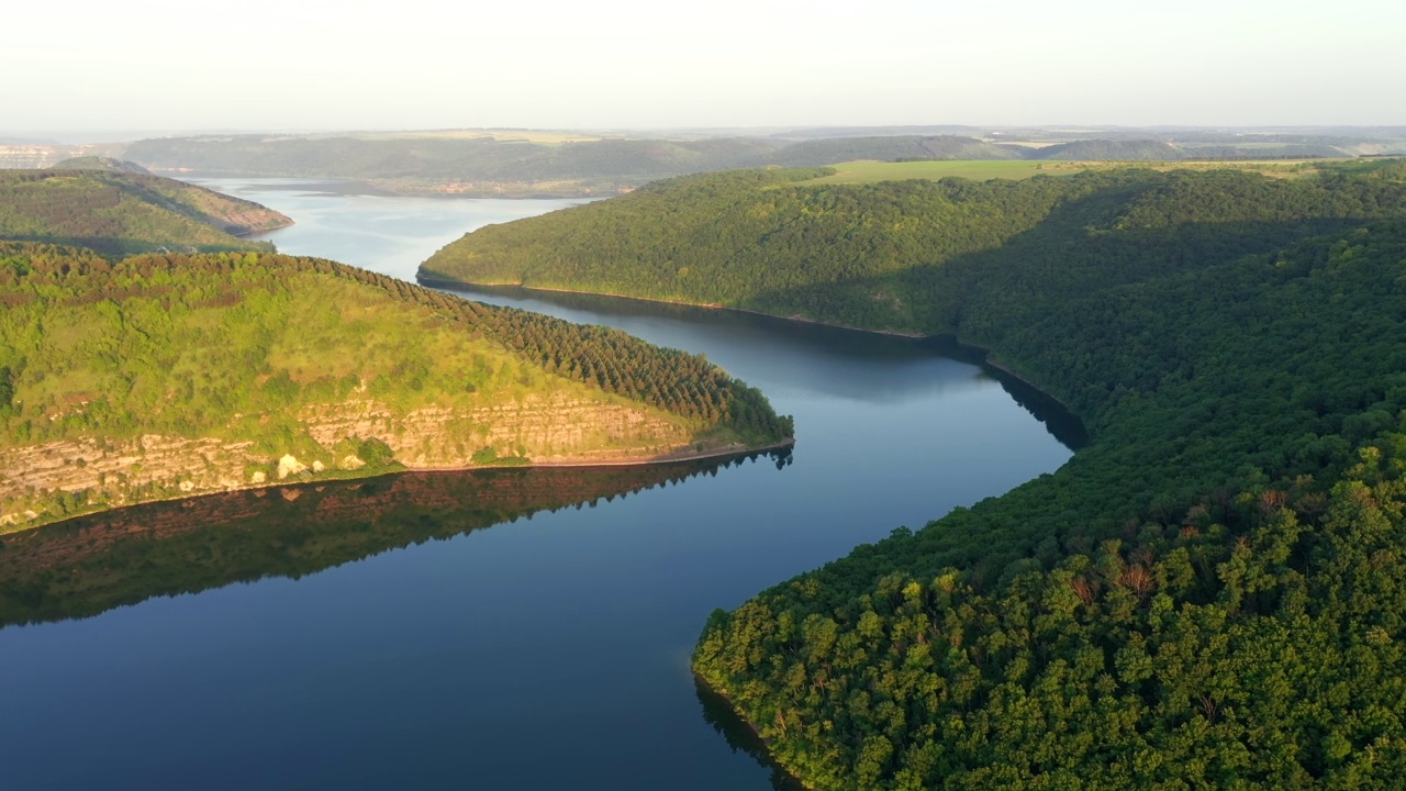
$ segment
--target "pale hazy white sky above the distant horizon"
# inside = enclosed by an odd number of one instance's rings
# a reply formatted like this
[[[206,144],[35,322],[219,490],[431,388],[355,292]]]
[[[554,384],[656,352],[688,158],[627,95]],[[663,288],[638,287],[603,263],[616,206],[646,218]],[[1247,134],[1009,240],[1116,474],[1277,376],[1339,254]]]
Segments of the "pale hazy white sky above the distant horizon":
[[[1406,1],[90,0],[0,131],[1406,124]]]

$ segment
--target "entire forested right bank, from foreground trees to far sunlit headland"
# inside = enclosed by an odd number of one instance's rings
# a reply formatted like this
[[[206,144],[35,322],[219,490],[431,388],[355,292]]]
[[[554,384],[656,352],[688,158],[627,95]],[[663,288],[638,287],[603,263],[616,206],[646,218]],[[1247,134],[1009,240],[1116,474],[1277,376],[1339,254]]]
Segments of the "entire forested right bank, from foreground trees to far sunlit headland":
[[[423,269],[955,335],[1083,418],[1059,472],[711,615],[695,670],[775,760],[815,790],[1399,785],[1406,166],[810,176]]]

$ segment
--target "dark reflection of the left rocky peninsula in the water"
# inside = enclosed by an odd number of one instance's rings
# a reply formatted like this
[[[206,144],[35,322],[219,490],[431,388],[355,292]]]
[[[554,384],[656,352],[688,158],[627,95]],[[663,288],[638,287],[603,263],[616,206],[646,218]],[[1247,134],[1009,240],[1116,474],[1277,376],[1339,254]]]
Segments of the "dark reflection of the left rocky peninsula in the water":
[[[156,502],[0,536],[0,626],[157,595],[304,577],[388,549],[599,501],[792,450],[669,464],[399,473]]]

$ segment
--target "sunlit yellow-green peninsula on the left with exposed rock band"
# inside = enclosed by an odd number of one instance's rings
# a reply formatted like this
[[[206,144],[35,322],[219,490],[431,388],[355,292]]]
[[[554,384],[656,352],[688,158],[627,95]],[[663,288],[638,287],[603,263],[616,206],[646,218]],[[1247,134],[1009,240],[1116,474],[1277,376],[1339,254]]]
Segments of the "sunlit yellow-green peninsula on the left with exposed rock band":
[[[0,532],[294,476],[792,435],[702,356],[321,259],[0,243]]]

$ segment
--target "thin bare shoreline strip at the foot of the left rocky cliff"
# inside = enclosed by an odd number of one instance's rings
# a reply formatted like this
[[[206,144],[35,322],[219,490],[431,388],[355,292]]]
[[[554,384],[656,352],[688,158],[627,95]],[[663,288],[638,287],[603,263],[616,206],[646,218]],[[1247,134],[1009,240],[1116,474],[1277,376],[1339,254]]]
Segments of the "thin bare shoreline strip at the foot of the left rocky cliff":
[[[229,488],[207,488],[207,490],[202,490],[202,491],[183,493],[183,494],[179,494],[179,495],[174,495],[174,497],[153,497],[150,500],[141,500],[141,501],[136,501],[136,502],[125,502],[125,504],[118,505],[115,508],[96,508],[93,511],[83,511],[83,512],[79,512],[79,514],[70,514],[67,517],[63,517],[62,519],[53,519],[53,521],[49,521],[49,522],[38,522],[38,524],[34,524],[34,525],[24,525],[24,526],[13,524],[13,525],[8,525],[8,526],[14,526],[17,529],[11,529],[11,531],[0,529],[0,540],[3,540],[7,536],[14,536],[14,535],[25,533],[25,532],[30,532],[30,531],[44,529],[44,528],[52,528],[55,525],[62,525],[63,522],[67,522],[67,521],[72,521],[72,519],[80,519],[80,518],[84,518],[84,517],[93,517],[96,514],[105,514],[105,512],[122,511],[122,510],[127,510],[127,508],[136,508],[136,507],[141,507],[141,505],[150,505],[153,502],[180,502],[183,500],[197,500],[197,498],[208,497],[208,495],[212,495],[212,494],[229,494],[229,493],[233,493],[233,491],[259,491],[259,490],[271,490],[271,488],[280,488],[280,487],[315,486],[315,484],[330,483],[330,481],[374,480],[374,479],[378,479],[378,477],[396,476],[396,474],[404,474],[404,473],[467,473],[467,472],[474,472],[474,470],[530,470],[530,469],[572,469],[572,467],[586,469],[586,467],[636,467],[636,466],[645,466],[645,464],[672,464],[672,463],[682,463],[682,462],[697,462],[697,460],[704,460],[704,459],[721,459],[721,457],[728,457],[728,456],[749,456],[752,453],[769,453],[769,452],[773,452],[773,450],[782,450],[782,449],[786,449],[786,448],[792,448],[794,445],[796,445],[796,438],[794,436],[787,436],[787,438],[782,439],[780,442],[773,442],[770,445],[762,445],[762,446],[756,446],[756,448],[731,446],[730,445],[727,448],[714,448],[714,449],[709,449],[709,450],[689,450],[686,453],[673,452],[673,453],[654,455],[654,456],[624,456],[624,457],[620,457],[620,459],[610,459],[610,460],[531,462],[531,463],[526,463],[526,464],[463,464],[463,466],[454,466],[454,467],[411,467],[411,466],[401,464],[399,469],[378,470],[378,472],[375,472],[373,474],[364,474],[364,476],[354,474],[353,470],[337,470],[339,473],[353,473],[353,474],[332,474],[332,476],[316,477],[316,479],[311,479],[311,480],[308,480],[308,479],[304,479],[304,480],[284,479],[284,480],[277,480],[277,481],[264,481],[264,483],[236,486],[236,487],[229,487]]]

